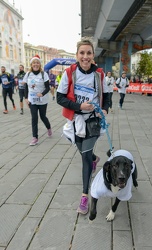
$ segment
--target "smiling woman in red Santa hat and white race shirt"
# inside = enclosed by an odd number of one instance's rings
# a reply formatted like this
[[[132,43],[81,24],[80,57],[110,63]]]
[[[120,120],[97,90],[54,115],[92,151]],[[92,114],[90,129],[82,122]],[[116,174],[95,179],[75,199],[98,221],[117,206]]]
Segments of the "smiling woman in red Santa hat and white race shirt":
[[[32,135],[30,146],[38,144],[38,114],[45,127],[48,136],[51,137],[51,124],[46,117],[47,105],[49,101],[49,76],[42,70],[39,55],[35,55],[30,60],[30,70],[24,76],[25,100],[31,111]]]

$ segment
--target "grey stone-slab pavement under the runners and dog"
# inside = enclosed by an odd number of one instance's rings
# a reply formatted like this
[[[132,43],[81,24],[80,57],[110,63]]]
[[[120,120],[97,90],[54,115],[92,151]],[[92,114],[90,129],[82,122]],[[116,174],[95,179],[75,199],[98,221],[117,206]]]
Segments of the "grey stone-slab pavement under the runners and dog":
[[[129,150],[137,164],[138,184],[129,202],[120,203],[113,222],[105,217],[111,199],[98,202],[92,224],[76,212],[82,192],[81,160],[74,145],[61,137],[65,123],[61,107],[52,101],[47,116],[53,135],[48,138],[39,119],[39,144],[31,141],[31,116],[20,115],[8,99],[3,114],[0,96],[0,250],[152,250],[152,96],[127,94],[124,109],[109,113],[109,133],[117,149]],[[107,160],[106,134],[95,152],[99,171]]]

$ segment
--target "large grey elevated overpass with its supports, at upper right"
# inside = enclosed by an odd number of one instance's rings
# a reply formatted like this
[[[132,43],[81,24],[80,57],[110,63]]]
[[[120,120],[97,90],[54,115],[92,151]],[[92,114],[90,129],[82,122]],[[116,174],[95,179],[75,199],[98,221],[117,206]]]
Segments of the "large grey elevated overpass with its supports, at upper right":
[[[152,0],[81,0],[81,37],[92,38],[98,65],[130,72],[131,54],[152,47]]]

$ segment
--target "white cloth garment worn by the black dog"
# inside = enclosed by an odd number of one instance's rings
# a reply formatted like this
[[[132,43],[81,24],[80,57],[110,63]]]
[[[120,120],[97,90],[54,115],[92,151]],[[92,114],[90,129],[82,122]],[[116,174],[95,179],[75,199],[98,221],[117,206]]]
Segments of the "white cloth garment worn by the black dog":
[[[131,173],[133,173],[134,169],[135,169],[135,163],[134,163],[134,159],[133,156],[130,152],[126,151],[126,150],[117,150],[114,152],[114,157],[115,156],[125,156],[128,159],[132,160],[132,170]],[[110,161],[113,158],[113,156],[111,156],[108,161]],[[109,190],[106,185],[104,184],[104,179],[103,179],[103,169],[101,169],[98,174],[95,176],[92,185],[91,185],[91,196],[99,199],[100,197],[117,197],[119,200],[121,201],[127,201],[132,197],[132,175],[130,175],[127,184],[124,188],[116,191],[116,192],[112,192],[111,190]]]

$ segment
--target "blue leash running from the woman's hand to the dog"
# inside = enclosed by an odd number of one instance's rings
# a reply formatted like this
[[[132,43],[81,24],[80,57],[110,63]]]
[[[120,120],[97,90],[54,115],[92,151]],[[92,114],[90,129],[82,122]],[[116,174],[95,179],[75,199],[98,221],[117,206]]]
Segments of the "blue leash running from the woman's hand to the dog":
[[[96,113],[100,113],[100,115],[101,115],[100,125],[101,125],[102,129],[106,130],[106,134],[107,134],[107,138],[108,138],[108,143],[109,143],[109,146],[110,146],[110,153],[111,153],[112,156],[114,156],[114,152],[113,152],[114,147],[112,146],[112,141],[111,141],[111,138],[110,138],[110,135],[109,135],[109,131],[108,131],[108,127],[109,127],[110,124],[108,124],[106,122],[105,115],[104,115],[102,109],[100,108],[100,106],[98,104],[94,103],[94,102],[89,102],[89,103],[93,104],[95,106],[95,109],[94,109],[95,112]]]

